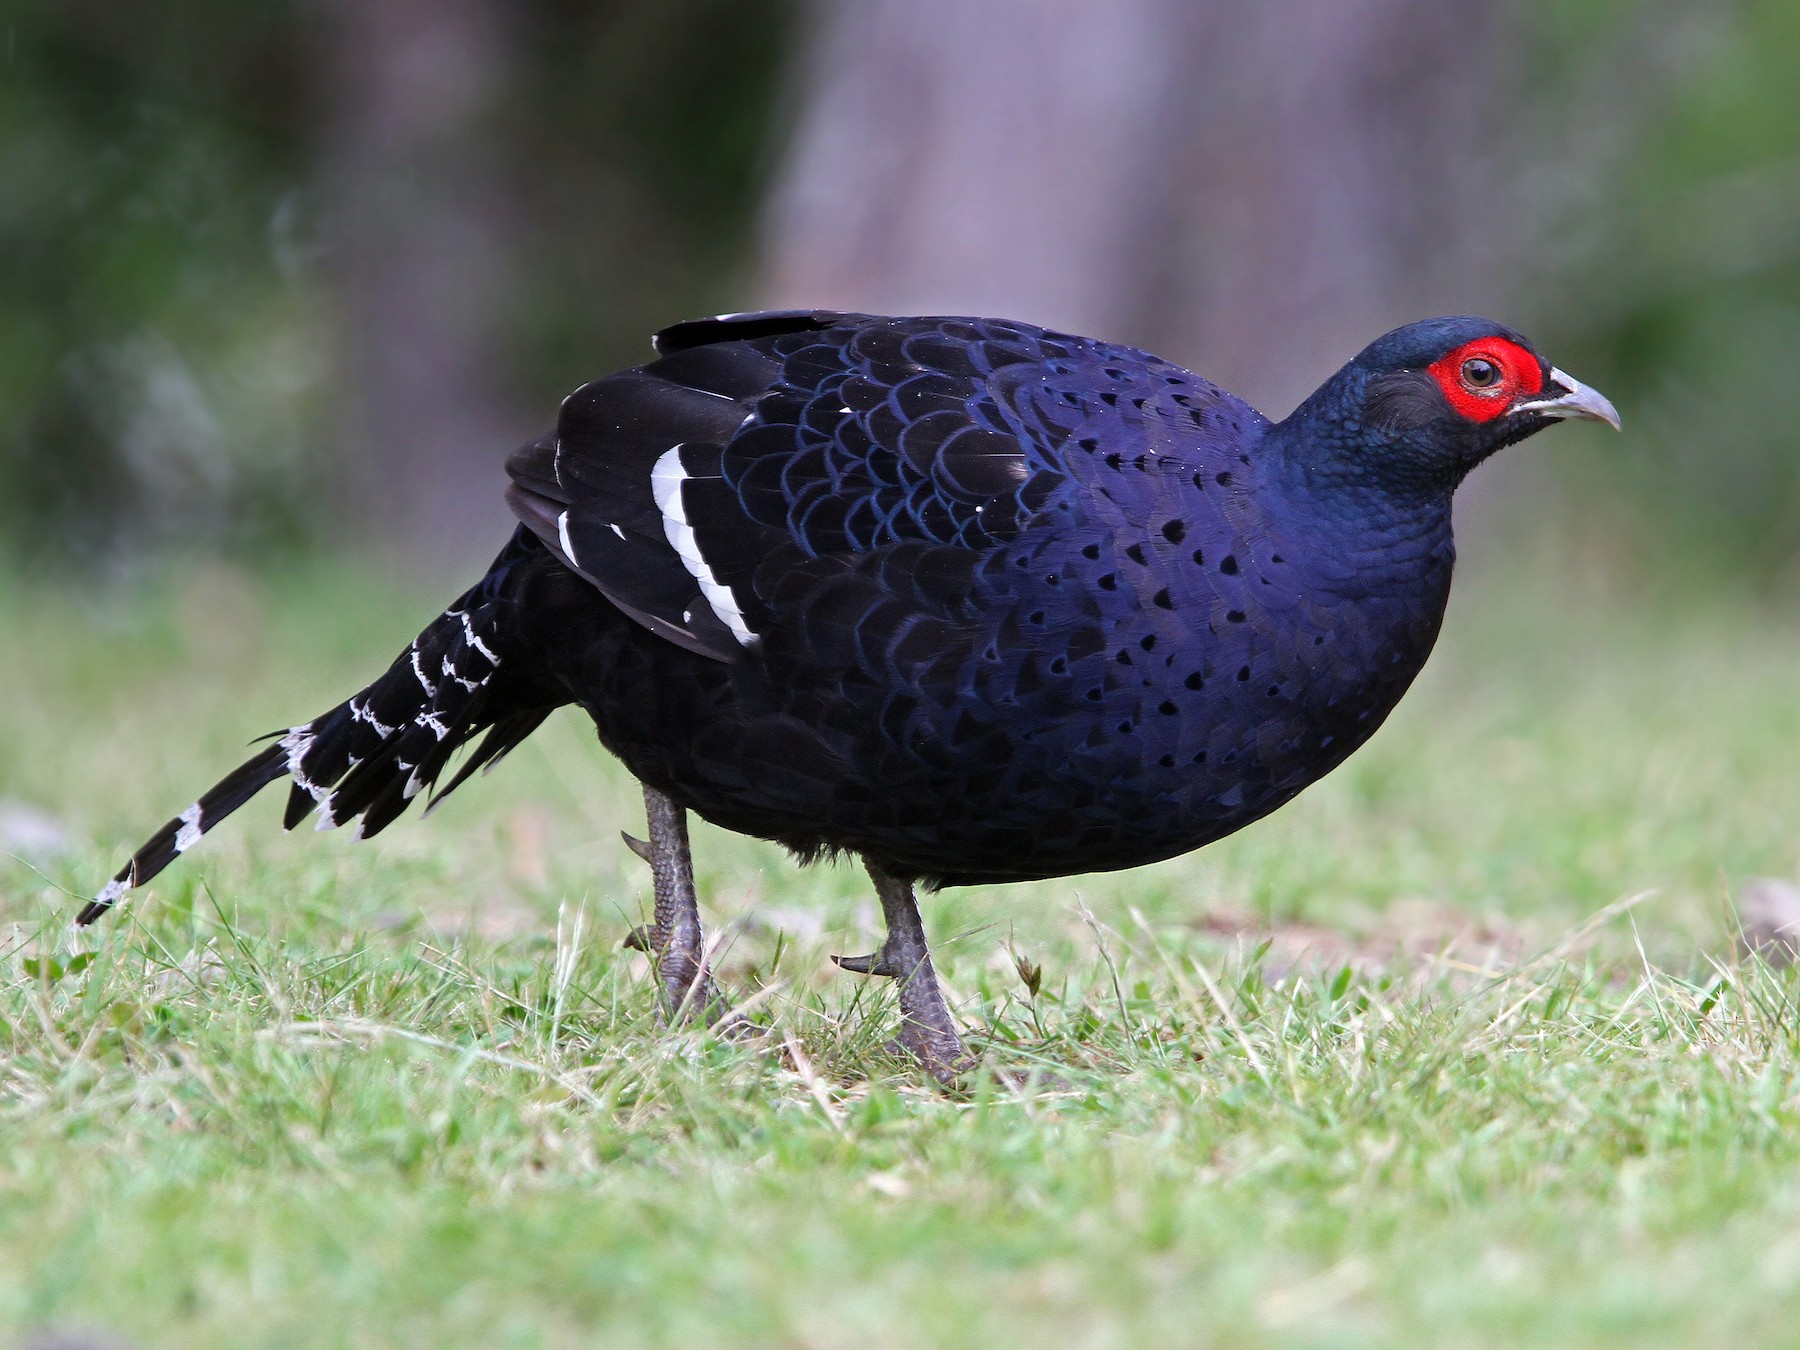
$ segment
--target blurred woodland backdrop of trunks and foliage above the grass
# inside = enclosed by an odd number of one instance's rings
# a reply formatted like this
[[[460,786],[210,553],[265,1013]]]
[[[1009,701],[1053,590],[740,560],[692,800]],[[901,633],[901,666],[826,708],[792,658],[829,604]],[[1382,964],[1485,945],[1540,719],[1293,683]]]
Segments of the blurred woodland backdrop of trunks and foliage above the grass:
[[[1478,515],[1786,590],[1796,50],[1789,0],[11,0],[0,556],[461,578],[506,450],[718,310],[1008,315],[1273,416],[1476,311],[1627,425]]]

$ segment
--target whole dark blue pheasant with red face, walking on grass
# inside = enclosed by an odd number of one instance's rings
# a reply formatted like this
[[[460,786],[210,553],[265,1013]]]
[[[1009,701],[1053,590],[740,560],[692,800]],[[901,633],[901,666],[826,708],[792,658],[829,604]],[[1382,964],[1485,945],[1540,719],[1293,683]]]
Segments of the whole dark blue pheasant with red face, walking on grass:
[[[900,1044],[970,1057],[913,887],[1132,868],[1337,767],[1418,673],[1451,493],[1611,403],[1485,319],[1370,344],[1285,421],[1157,356],[994,319],[677,324],[508,461],[520,526],[369,688],[169,821],[92,923],[275,779],[373,835],[562,704],[644,788],[670,1019],[731,1019],[688,810],[857,853]]]

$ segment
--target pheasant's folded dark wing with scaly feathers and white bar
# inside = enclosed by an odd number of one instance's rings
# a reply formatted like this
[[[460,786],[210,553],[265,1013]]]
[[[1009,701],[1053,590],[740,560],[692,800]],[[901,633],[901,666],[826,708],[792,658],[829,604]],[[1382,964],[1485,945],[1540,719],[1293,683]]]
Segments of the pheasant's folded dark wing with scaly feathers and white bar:
[[[950,578],[1073,509],[1069,457],[1112,439],[1084,432],[1154,445],[1143,391],[1165,378],[1228,398],[1129,347],[986,319],[724,315],[657,349],[565,400],[554,436],[509,461],[509,499],[621,610],[722,661],[781,626],[805,578],[837,594],[853,574],[902,626],[952,621]],[[848,612],[812,608],[815,634]]]

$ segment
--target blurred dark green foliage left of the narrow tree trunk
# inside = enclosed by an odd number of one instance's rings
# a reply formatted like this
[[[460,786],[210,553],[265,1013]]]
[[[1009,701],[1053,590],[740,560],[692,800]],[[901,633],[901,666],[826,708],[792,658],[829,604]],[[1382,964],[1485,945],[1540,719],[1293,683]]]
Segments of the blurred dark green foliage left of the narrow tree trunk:
[[[9,5],[0,544],[293,538],[317,418],[311,315],[272,239],[304,148],[293,25],[286,5]]]

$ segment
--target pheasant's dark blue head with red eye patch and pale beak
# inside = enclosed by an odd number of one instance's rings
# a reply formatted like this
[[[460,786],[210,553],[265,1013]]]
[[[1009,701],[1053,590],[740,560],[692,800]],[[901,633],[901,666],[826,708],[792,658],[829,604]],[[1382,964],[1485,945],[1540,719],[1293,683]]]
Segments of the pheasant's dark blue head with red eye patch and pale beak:
[[[1375,338],[1282,423],[1309,477],[1447,493],[1501,446],[1553,421],[1618,430],[1604,394],[1492,319],[1424,319]]]

